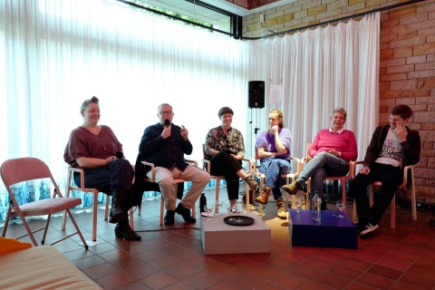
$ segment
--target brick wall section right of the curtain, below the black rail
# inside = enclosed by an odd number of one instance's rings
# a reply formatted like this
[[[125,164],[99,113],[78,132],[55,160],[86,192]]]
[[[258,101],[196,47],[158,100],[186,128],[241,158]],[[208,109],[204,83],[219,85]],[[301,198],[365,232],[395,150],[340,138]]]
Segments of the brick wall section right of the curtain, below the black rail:
[[[381,16],[380,122],[388,122],[388,111],[396,104],[412,108],[409,126],[421,137],[417,197],[435,203],[435,1]]]

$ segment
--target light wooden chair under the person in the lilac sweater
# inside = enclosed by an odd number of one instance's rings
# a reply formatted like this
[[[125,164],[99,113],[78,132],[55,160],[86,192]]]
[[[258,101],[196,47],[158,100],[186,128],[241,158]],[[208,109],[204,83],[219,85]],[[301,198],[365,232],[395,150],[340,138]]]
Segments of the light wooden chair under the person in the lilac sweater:
[[[255,149],[255,151],[256,151],[256,157],[255,157],[255,159],[253,161],[253,165],[254,165],[254,169],[253,169],[254,179],[256,179],[256,178],[260,179],[260,190],[262,190],[264,188],[264,186],[265,186],[266,174],[260,173],[258,171],[257,167],[259,166],[260,158],[258,156],[258,149],[257,148]],[[294,182],[295,179],[297,178],[297,176],[302,171],[302,163],[301,163],[300,159],[295,158],[295,157],[290,157],[290,161],[293,163],[292,169],[296,169],[296,172],[281,174],[281,178],[285,179],[286,184],[288,184],[290,182],[290,180],[292,180],[292,182]],[[283,190],[283,191],[284,191],[284,193],[286,193],[285,190]],[[304,193],[304,195],[305,195],[305,198],[306,198],[306,205],[309,206],[310,198],[309,198],[307,193]],[[288,194],[285,194],[285,203],[288,205]],[[294,195],[292,196],[292,208],[296,208],[296,206],[295,206],[295,196]],[[258,211],[261,213],[262,209],[263,209],[263,205],[260,204]]]

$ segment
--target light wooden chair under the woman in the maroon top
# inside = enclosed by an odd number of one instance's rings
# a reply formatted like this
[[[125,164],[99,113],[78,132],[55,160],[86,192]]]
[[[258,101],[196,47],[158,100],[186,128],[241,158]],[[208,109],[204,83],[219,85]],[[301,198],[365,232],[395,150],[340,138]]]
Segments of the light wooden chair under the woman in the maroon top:
[[[82,191],[85,193],[91,193],[92,194],[92,241],[97,241],[97,213],[98,213],[98,194],[100,191],[98,189],[87,189],[84,186],[84,171],[83,169],[76,169],[73,167],[69,167],[68,174],[66,177],[66,194],[65,196],[68,198],[70,196],[70,192],[72,190],[75,191]],[[134,168],[133,168],[134,169]],[[80,179],[81,184],[80,186],[75,185],[73,181],[73,172],[80,173]],[[111,204],[111,196],[106,194],[106,205],[104,210],[104,220],[109,219],[109,206]],[[130,210],[130,226],[131,229],[134,229],[134,218],[133,218],[133,210]],[[65,230],[65,223],[66,223],[66,214],[63,213],[63,221],[62,221],[62,230]]]

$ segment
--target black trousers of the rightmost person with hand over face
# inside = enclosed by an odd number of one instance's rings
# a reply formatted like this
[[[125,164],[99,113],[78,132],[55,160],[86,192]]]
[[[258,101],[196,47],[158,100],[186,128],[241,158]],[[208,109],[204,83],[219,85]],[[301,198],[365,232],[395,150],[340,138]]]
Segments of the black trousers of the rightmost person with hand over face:
[[[381,181],[381,191],[374,197],[372,208],[367,196],[367,186]],[[373,163],[368,175],[358,174],[351,181],[349,195],[355,198],[358,220],[377,225],[389,207],[391,199],[403,181],[403,169],[387,164]]]

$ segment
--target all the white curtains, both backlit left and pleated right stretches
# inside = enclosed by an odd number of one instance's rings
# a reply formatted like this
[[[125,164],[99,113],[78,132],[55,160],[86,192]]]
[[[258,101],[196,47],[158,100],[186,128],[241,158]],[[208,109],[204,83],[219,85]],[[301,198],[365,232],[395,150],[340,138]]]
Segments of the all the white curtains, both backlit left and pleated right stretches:
[[[278,107],[293,131],[295,156],[337,106],[349,111],[347,127],[366,146],[377,123],[378,39],[379,15],[242,42],[116,1],[0,0],[0,162],[34,156],[64,183],[64,146],[92,95],[100,98],[101,123],[132,163],[162,102],[189,130],[189,159],[202,158],[201,143],[218,126],[222,106],[235,111],[233,126],[246,136],[250,157],[254,118],[264,130],[270,106],[255,114],[247,109],[247,82],[271,79],[283,84]],[[6,204],[1,184],[0,220]]]

